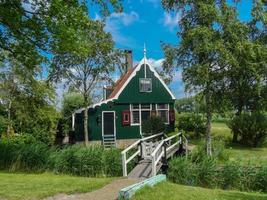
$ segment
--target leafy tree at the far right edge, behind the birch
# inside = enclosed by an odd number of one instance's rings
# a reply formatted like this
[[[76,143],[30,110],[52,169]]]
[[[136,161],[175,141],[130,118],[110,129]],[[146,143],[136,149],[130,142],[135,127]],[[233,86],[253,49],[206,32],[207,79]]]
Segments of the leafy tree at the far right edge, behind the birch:
[[[221,10],[221,33],[227,51],[222,55],[223,65],[227,66],[225,98],[231,102],[238,118],[244,110],[256,111],[262,107],[267,77],[266,46],[256,39],[261,34],[252,26],[254,19],[248,24],[240,22],[236,9],[226,3]],[[233,132],[233,142],[237,142],[237,133]]]

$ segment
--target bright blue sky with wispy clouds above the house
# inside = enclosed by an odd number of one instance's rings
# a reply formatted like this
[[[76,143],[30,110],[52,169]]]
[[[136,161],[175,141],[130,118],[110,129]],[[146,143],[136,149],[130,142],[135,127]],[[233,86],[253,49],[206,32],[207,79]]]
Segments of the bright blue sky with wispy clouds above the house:
[[[251,18],[252,0],[243,0],[238,4],[239,17],[242,21]],[[99,15],[91,12],[91,17]],[[179,14],[167,13],[160,0],[125,0],[124,11],[113,13],[106,20],[105,30],[110,32],[117,48],[132,49],[134,62],[143,57],[143,46],[146,43],[147,57],[154,67],[159,67],[164,59],[160,42],[177,44],[176,36]],[[170,84],[177,98],[183,97],[184,86],[178,71]]]

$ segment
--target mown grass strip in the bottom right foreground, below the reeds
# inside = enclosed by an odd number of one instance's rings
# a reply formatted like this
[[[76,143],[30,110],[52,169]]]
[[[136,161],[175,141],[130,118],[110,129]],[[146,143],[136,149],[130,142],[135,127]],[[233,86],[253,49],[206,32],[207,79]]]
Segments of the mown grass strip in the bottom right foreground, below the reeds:
[[[170,182],[145,187],[138,191],[133,200],[266,200],[267,194],[206,189],[178,185]]]

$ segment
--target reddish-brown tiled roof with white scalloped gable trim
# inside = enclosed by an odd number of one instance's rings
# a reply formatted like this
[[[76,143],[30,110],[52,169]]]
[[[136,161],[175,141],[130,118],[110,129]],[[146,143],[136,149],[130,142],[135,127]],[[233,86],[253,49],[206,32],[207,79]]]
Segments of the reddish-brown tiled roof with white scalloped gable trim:
[[[132,80],[132,78],[136,75],[136,72],[140,70],[141,66],[143,64],[146,64],[150,70],[152,72],[154,72],[154,75],[159,79],[159,81],[162,83],[162,85],[165,87],[165,89],[169,92],[169,94],[171,95],[172,99],[175,99],[175,96],[172,94],[172,92],[170,91],[170,89],[168,88],[168,86],[164,83],[164,81],[161,79],[161,77],[159,76],[158,72],[154,69],[154,67],[152,67],[149,63],[148,60],[146,59],[146,57],[144,57],[138,65],[136,65],[135,67],[129,69],[126,74],[124,74],[113,86],[113,91],[112,93],[109,95],[109,97],[104,100],[104,101],[100,101],[99,103],[96,103],[94,105],[89,106],[88,108],[95,108],[96,106],[100,106],[104,103],[108,103],[111,102],[113,100],[118,99],[119,95],[121,94],[121,92],[123,91],[123,89],[127,86],[127,84]],[[78,109],[76,110],[74,113],[81,113],[84,110],[84,108]]]

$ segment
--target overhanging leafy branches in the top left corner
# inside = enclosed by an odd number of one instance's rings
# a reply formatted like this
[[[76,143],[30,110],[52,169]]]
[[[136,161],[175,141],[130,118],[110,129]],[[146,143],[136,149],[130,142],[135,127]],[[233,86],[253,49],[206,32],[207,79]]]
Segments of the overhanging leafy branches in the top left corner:
[[[120,0],[1,0],[0,50],[7,54],[0,59],[15,59],[29,69],[49,59],[54,41],[65,37],[64,45],[75,43],[68,22],[79,20],[81,7],[98,6],[103,16],[111,10],[121,11]],[[66,18],[68,17],[68,18]]]

